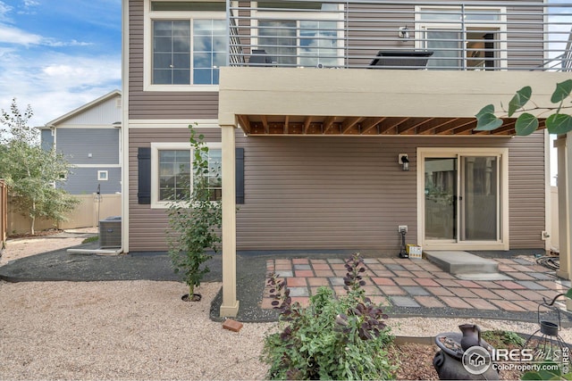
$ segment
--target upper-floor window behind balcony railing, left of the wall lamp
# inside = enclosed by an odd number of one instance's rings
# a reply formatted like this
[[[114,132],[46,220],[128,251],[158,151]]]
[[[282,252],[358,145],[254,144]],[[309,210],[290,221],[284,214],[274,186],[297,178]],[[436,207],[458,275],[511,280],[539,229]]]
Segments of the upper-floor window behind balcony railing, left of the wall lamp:
[[[339,66],[343,62],[341,6],[320,2],[258,2],[253,20],[257,22],[253,25],[255,45],[278,65]],[[308,9],[315,12],[307,12]]]

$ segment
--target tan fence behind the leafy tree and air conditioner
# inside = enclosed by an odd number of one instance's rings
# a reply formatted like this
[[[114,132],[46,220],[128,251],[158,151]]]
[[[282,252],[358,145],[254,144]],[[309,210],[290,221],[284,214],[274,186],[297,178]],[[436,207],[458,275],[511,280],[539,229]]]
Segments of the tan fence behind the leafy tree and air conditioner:
[[[49,228],[71,229],[71,228],[95,228],[99,225],[100,219],[120,216],[122,213],[122,195],[75,195],[80,199],[73,211],[68,214],[68,220],[56,223],[49,219],[36,219],[36,231]],[[10,203],[12,196],[7,196],[7,234],[28,233],[30,219],[15,211]],[[1,209],[1,208],[0,208]]]

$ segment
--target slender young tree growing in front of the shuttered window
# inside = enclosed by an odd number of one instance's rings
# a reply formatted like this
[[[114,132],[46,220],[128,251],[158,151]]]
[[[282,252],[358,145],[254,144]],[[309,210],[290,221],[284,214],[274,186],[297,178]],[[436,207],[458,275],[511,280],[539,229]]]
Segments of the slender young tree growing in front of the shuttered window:
[[[221,201],[213,197],[211,188],[213,183],[220,182],[220,169],[210,169],[204,137],[197,135],[192,126],[189,129],[193,176],[189,178],[186,190],[175,193],[169,204],[167,243],[172,267],[175,273],[182,274],[189,286],[189,298],[193,298],[195,286],[200,286],[202,278],[210,271],[205,262],[212,254],[207,251],[217,253],[222,242],[223,209]],[[185,178],[182,169],[180,175]]]

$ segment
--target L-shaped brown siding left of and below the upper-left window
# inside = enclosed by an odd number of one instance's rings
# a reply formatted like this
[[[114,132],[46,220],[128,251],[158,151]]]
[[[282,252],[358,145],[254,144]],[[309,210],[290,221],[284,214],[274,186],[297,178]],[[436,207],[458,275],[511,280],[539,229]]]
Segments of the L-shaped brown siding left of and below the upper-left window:
[[[143,91],[143,1],[129,4],[129,119],[217,119],[218,92]]]

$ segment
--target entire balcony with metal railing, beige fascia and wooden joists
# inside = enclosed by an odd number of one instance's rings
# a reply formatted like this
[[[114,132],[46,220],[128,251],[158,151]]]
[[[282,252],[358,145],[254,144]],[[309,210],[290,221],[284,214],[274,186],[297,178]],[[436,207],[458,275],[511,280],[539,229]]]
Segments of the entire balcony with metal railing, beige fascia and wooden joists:
[[[475,131],[475,113],[524,86],[550,104],[572,71],[572,2],[254,4],[227,4],[219,90],[248,135],[508,137],[516,119]]]

